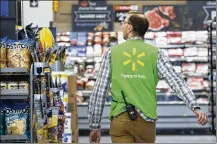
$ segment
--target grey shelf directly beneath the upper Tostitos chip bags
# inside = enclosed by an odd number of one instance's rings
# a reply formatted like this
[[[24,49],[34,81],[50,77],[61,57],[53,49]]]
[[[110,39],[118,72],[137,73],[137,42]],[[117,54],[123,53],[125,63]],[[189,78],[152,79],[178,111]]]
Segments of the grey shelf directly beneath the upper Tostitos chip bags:
[[[16,74],[25,74],[29,75],[29,72],[26,68],[1,68],[1,75],[16,75]]]

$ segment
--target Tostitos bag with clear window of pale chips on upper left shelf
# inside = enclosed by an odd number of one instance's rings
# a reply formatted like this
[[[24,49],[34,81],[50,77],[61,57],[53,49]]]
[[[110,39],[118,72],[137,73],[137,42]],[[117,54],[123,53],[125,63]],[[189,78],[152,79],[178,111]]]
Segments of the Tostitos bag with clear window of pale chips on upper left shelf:
[[[8,67],[30,69],[30,51],[34,41],[30,39],[7,42]]]

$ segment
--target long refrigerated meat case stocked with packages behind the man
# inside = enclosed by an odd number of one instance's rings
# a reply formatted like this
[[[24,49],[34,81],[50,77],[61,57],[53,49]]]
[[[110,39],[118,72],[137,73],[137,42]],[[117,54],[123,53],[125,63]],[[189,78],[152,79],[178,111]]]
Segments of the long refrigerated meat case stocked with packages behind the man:
[[[107,36],[109,35],[109,41]],[[200,37],[202,36],[202,37]],[[92,38],[91,38],[92,37]],[[170,58],[175,70],[193,89],[204,112],[208,112],[208,32],[151,32],[145,41],[156,45]],[[80,130],[89,129],[88,100],[91,95],[103,54],[110,46],[124,42],[121,32],[105,33],[58,33],[57,43],[67,45],[66,69],[78,75],[77,102]],[[193,50],[189,54],[189,49]],[[102,129],[109,129],[111,94],[108,93],[102,115]],[[197,117],[169,88],[160,80],[157,86],[157,129],[209,129],[210,126],[197,124]]]

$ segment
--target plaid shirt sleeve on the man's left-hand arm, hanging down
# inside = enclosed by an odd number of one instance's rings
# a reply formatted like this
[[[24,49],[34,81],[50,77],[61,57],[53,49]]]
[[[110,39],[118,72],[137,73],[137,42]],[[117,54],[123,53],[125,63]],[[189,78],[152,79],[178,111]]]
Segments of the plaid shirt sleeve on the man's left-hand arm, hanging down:
[[[101,63],[100,70],[98,72],[97,80],[94,85],[93,92],[90,96],[88,106],[88,119],[89,127],[91,130],[100,129],[101,116],[105,105],[105,98],[110,86],[110,60],[111,50],[107,51]]]

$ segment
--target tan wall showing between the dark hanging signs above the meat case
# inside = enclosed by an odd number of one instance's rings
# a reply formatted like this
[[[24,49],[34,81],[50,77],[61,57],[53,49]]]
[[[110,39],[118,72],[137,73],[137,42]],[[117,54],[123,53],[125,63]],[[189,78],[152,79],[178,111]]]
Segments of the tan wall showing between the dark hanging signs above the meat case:
[[[139,12],[142,12],[143,5],[154,5],[154,4],[185,4],[186,1],[139,1],[139,0],[107,0],[107,4],[137,4]],[[72,4],[78,4],[78,1],[60,1],[59,11],[55,14],[55,26],[57,32],[72,31]],[[114,31],[120,30],[120,24],[114,23]]]

